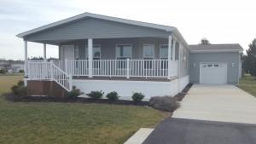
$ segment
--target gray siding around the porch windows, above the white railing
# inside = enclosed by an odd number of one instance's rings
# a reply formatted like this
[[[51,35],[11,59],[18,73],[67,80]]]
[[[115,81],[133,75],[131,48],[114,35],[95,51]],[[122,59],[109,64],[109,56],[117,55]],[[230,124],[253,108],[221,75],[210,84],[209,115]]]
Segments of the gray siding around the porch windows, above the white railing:
[[[143,44],[154,44],[154,59],[160,59],[160,44],[167,44],[166,38],[141,37],[141,38],[111,38],[111,39],[94,39],[93,44],[101,45],[101,59],[113,60],[116,59],[115,48],[117,44],[132,45],[132,59],[143,59]],[[85,45],[87,41],[73,41],[65,44],[74,44],[79,46],[79,59],[85,59],[87,51]],[[64,58],[65,59],[65,58]]]

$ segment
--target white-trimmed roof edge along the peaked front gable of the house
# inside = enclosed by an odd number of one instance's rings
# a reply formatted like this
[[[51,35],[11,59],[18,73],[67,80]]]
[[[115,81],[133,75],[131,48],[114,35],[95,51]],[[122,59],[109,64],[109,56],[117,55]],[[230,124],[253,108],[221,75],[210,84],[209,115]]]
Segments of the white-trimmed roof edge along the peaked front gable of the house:
[[[30,35],[32,33],[41,32],[41,31],[47,30],[51,27],[60,26],[60,25],[66,24],[68,22],[71,22],[73,20],[84,19],[86,17],[91,17],[91,18],[96,18],[96,19],[101,19],[101,20],[110,20],[110,21],[115,21],[115,22],[125,23],[125,24],[129,24],[129,25],[135,25],[135,26],[155,28],[155,29],[159,29],[159,30],[164,30],[166,32],[177,31],[177,28],[173,27],[173,26],[158,25],[158,24],[152,24],[152,23],[148,23],[148,22],[141,22],[141,21],[137,21],[137,20],[126,20],[126,19],[106,16],[106,15],[101,15],[101,14],[84,13],[84,14],[75,15],[73,17],[70,17],[70,18],[67,18],[64,20],[56,21],[49,25],[40,26],[38,28],[29,30],[27,32],[22,32],[22,33],[18,34],[17,37],[26,37],[27,35]]]

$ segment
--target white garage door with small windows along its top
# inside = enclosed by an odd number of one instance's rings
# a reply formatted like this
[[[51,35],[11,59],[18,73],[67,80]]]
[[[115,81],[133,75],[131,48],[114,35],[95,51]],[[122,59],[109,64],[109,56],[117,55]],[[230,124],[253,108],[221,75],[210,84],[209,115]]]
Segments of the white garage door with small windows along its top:
[[[227,64],[201,63],[200,84],[227,84]]]

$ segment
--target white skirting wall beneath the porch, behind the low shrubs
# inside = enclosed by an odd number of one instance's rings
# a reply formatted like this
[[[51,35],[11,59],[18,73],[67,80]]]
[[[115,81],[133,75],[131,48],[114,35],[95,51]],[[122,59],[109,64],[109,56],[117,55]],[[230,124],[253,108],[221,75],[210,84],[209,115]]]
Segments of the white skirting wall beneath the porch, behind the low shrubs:
[[[172,82],[152,81],[121,81],[121,80],[79,80],[74,79],[73,85],[85,94],[90,91],[102,90],[105,95],[116,91],[121,97],[131,97],[134,92],[141,92],[148,100],[152,96],[177,95],[177,93],[189,84],[189,78],[183,77]]]

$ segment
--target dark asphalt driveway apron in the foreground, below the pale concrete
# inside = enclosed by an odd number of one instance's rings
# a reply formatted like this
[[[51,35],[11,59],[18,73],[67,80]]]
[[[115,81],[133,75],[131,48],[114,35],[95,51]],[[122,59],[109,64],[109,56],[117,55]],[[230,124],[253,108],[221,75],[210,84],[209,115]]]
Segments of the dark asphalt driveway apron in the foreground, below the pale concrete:
[[[254,144],[256,125],[167,118],[143,144]]]

